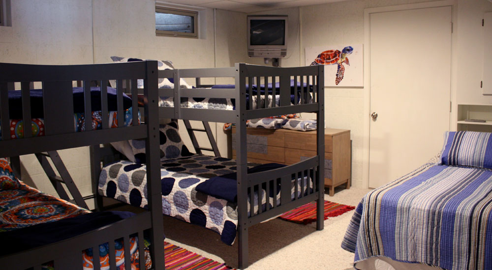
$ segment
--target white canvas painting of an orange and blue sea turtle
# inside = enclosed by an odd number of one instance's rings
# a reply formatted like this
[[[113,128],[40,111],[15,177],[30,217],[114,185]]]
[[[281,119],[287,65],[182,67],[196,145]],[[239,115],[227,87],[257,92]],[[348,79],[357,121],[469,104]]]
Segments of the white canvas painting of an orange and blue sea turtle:
[[[362,44],[306,47],[306,65],[325,66],[325,86],[364,86]]]

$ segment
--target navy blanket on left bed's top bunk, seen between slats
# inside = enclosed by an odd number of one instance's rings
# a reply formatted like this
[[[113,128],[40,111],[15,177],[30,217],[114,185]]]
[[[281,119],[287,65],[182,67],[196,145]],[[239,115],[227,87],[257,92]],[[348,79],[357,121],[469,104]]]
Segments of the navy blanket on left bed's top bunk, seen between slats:
[[[91,106],[92,111],[101,110],[101,89],[91,87]],[[131,98],[123,94],[123,109],[131,107]],[[21,91],[8,91],[8,113],[10,119],[22,118],[22,98]],[[73,87],[73,112],[84,112],[84,88]],[[117,92],[115,88],[108,87],[108,110],[118,110]],[[31,90],[31,117],[42,118],[43,113],[43,90]]]

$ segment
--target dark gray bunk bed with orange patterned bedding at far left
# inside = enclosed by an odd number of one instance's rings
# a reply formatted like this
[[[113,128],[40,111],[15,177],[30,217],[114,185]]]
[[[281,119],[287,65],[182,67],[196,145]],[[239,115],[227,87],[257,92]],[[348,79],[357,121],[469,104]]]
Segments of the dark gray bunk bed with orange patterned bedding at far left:
[[[124,121],[120,124],[115,122],[112,126],[109,117],[104,115],[110,114],[111,104],[108,106],[108,101],[111,99],[108,92],[115,92],[116,111],[114,112],[117,119],[124,118],[123,110],[123,82],[130,85],[131,92],[136,95],[139,91],[136,87],[136,81],[141,79],[144,81],[144,89],[141,91],[144,102],[145,121],[139,120],[138,110],[134,109],[129,115],[132,118],[131,125],[124,125]],[[107,87],[107,80],[117,80],[116,89]],[[82,89],[75,91],[72,88],[74,81],[83,81]],[[101,125],[98,127],[93,125],[93,121],[84,121],[81,124],[83,127],[77,129],[77,114],[74,116],[75,101],[80,101],[76,97],[76,92],[81,93],[83,102],[83,113],[92,115],[95,109],[91,82],[98,81],[98,101],[100,108]],[[1,214],[5,214],[15,207],[22,205],[22,202],[28,201],[33,196],[23,197],[16,200],[15,197],[9,199],[8,196],[16,194],[33,194],[40,197],[42,201],[50,201],[57,207],[62,209],[71,209],[70,215],[63,214],[59,220],[47,220],[51,222],[40,223],[41,219],[29,218],[23,220],[19,229],[14,223],[3,224],[0,226],[0,238],[2,239],[2,253],[0,255],[0,265],[2,269],[42,269],[48,266],[54,269],[85,269],[88,265],[93,269],[116,269],[116,251],[123,243],[123,249],[119,255],[124,261],[125,269],[129,270],[135,265],[131,265],[133,254],[130,250],[134,249],[139,256],[141,270],[146,269],[144,263],[146,248],[144,245],[144,235],[150,240],[150,257],[152,264],[147,266],[153,269],[164,269],[164,252],[163,252],[163,227],[162,227],[162,206],[160,196],[160,182],[158,169],[158,145],[157,131],[158,126],[158,111],[154,106],[157,101],[157,63],[155,61],[124,63],[124,64],[94,64],[94,65],[70,65],[70,66],[50,66],[50,65],[26,65],[26,64],[11,64],[0,63],[0,126],[2,137],[0,140],[0,157],[9,158],[14,161],[14,167],[19,165],[18,160],[20,155],[31,153],[44,153],[56,151],[58,149],[74,148],[81,146],[90,146],[99,143],[109,143],[111,141],[121,141],[126,139],[144,139],[145,147],[147,147],[146,157],[147,166],[146,176],[147,191],[149,198],[149,211],[145,211],[138,215],[130,215],[123,213],[118,218],[109,218],[106,223],[94,223],[87,225],[88,219],[91,216],[107,216],[113,213],[89,213],[87,209],[77,207],[62,199],[49,196],[42,192],[32,189],[24,183],[18,181],[20,178],[20,169],[10,168],[6,159],[0,161],[3,169],[1,181],[5,185],[0,185],[2,193]],[[32,82],[41,82],[42,89],[40,91],[31,90]],[[16,83],[20,83],[20,90],[15,90]],[[20,104],[10,106],[11,94],[13,96],[20,95]],[[36,100],[34,96],[39,95],[41,99]],[[91,98],[92,96],[92,98]],[[96,99],[97,101],[97,99]],[[35,115],[36,105],[40,106],[40,115]],[[131,100],[131,107],[137,108],[136,100]],[[62,105],[62,106],[61,106]],[[14,108],[20,107],[20,108]],[[109,109],[108,109],[109,108]],[[43,127],[39,130],[42,134],[32,134],[31,130],[26,131],[24,127],[22,136],[10,135],[10,124],[12,119],[18,117],[12,114],[13,109],[20,109],[21,119],[24,123],[31,123],[32,118],[42,120]],[[34,117],[33,117],[34,116]],[[80,115],[79,115],[80,116]],[[17,120],[14,120],[17,121]],[[38,122],[39,123],[39,122]],[[29,127],[29,125],[27,125]],[[79,125],[80,127],[80,125]],[[30,128],[30,127],[29,127]],[[16,162],[17,161],[17,162]],[[91,161],[92,171],[101,166],[101,162],[97,160]],[[7,182],[3,182],[3,180]],[[3,196],[4,195],[4,196]],[[27,199],[26,199],[27,198]],[[92,215],[93,214],[93,215]],[[29,217],[29,216],[28,216]],[[2,220],[4,221],[4,220]],[[63,223],[64,222],[64,223]],[[39,224],[35,224],[39,223]],[[64,227],[56,227],[62,226]],[[34,225],[32,225],[34,224]],[[86,226],[87,225],[87,226]],[[46,230],[44,230],[46,229]],[[80,231],[78,229],[81,229]],[[26,246],[20,246],[19,237],[22,237],[27,242],[33,242],[34,238],[30,235],[42,236],[44,232],[48,236],[59,236],[60,232],[64,233],[63,237],[58,239],[43,239],[37,244],[28,243]],[[28,234],[31,233],[31,234]],[[16,249],[10,249],[9,243],[3,240],[11,239],[12,243],[16,242]],[[36,239],[37,241],[38,239]],[[139,241],[138,241],[139,240]],[[104,245],[107,246],[104,249]],[[89,250],[90,249],[90,250]],[[91,255],[93,258],[102,258],[103,254],[100,250],[108,250],[106,254],[107,261],[100,264],[92,264],[90,262]],[[86,256],[88,255],[88,256]],[[84,256],[84,257],[83,257]],[[84,259],[84,264],[83,264]],[[97,260],[94,260],[97,262]],[[87,264],[86,264],[87,263]],[[119,267],[120,269],[120,267]]]

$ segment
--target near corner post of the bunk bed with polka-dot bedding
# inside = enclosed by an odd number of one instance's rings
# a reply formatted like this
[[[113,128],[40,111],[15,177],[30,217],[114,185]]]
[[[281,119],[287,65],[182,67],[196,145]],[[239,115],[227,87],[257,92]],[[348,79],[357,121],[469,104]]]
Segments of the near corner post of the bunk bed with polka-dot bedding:
[[[246,157],[246,76],[244,63],[236,63],[236,166],[238,179],[238,268],[248,266],[248,225],[247,225],[247,157]],[[239,101],[239,102],[238,102]]]

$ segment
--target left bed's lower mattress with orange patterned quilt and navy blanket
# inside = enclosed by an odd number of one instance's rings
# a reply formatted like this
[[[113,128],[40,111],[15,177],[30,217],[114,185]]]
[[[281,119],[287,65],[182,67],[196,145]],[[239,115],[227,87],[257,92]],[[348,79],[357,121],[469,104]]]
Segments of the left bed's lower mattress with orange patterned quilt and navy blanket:
[[[16,187],[0,189],[0,254],[7,255],[89,232],[132,216],[129,212],[90,212],[74,204],[33,189],[21,181]],[[149,245],[147,241],[146,246]],[[7,244],[8,243],[8,244]],[[132,269],[138,269],[138,238],[130,238]],[[109,269],[108,243],[99,245],[101,270]],[[115,241],[116,269],[124,269],[123,240]],[[145,264],[152,262],[146,248]],[[92,248],[84,250],[80,263],[93,269]],[[53,269],[47,263],[43,269]]]

